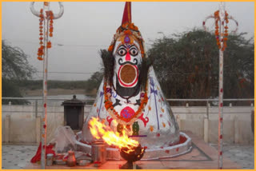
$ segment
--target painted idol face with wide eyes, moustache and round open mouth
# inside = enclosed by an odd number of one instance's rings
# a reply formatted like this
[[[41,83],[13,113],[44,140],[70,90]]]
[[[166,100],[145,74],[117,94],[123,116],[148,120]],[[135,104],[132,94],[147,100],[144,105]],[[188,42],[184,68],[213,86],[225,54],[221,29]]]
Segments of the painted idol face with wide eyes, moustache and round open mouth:
[[[138,66],[142,63],[142,54],[133,35],[118,38],[114,48],[114,85],[117,93],[124,97],[137,95]]]

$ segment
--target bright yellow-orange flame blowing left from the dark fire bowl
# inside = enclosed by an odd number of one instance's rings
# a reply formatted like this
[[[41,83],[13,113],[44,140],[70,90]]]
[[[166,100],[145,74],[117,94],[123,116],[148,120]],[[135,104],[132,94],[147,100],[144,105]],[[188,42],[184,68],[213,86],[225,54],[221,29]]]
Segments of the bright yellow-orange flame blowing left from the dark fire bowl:
[[[114,121],[117,125],[117,122]],[[89,121],[90,133],[96,138],[105,141],[108,145],[118,146],[119,149],[122,147],[127,148],[126,153],[134,151],[134,147],[139,145],[138,141],[130,139],[128,136],[131,133],[128,129],[124,128],[122,134],[114,132],[109,126],[98,120],[96,117],[92,117]]]

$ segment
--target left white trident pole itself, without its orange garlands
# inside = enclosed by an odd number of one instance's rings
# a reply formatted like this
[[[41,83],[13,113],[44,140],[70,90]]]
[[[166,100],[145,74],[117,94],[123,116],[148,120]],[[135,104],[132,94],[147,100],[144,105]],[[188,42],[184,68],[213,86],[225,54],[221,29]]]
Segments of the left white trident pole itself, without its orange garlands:
[[[62,5],[62,2],[58,2],[59,5],[59,13],[54,14],[54,19],[58,19],[62,17],[62,14],[64,13],[64,7]],[[34,2],[31,2],[30,4],[30,10],[32,14],[40,18],[40,12],[34,9]],[[46,168],[46,129],[47,129],[47,66],[48,66],[48,48],[47,48],[47,42],[48,42],[48,29],[49,29],[49,21],[50,16],[46,15],[46,12],[50,10],[50,2],[44,2],[43,3],[43,22],[44,22],[44,53],[43,53],[43,113],[42,113],[42,153],[41,153],[41,169]]]

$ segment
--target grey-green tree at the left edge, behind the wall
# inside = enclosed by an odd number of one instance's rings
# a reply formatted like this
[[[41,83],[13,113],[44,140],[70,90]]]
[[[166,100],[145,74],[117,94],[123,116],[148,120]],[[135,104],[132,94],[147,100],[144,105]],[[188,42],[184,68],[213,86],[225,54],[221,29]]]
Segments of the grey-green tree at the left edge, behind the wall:
[[[30,66],[28,55],[18,47],[12,47],[2,40],[2,97],[22,97],[19,82],[32,78],[36,71]],[[12,101],[13,104],[26,101]],[[2,101],[3,104],[8,101]]]

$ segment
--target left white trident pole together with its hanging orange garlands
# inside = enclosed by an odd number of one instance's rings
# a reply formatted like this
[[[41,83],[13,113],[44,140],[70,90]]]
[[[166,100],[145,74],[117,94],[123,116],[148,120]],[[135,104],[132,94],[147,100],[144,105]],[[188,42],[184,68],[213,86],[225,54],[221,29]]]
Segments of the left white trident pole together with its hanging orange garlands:
[[[31,2],[30,10],[32,14],[39,19],[40,30],[40,47],[38,49],[38,60],[43,61],[43,113],[42,113],[42,153],[41,153],[41,169],[46,168],[46,125],[47,125],[47,66],[48,66],[48,49],[51,47],[49,37],[53,36],[53,19],[62,17],[64,7],[62,2],[58,2],[60,11],[54,14],[50,10],[50,2],[43,2],[43,8],[40,11],[34,9],[34,2]]]

